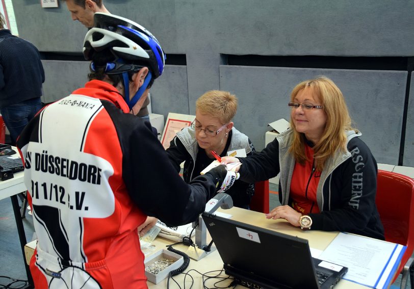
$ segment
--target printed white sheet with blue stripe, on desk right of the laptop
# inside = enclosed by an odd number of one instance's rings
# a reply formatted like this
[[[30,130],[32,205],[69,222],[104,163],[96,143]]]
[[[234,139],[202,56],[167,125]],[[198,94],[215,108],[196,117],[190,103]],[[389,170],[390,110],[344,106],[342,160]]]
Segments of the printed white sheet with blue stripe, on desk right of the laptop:
[[[349,233],[339,233],[318,257],[348,267],[344,279],[372,288],[386,288],[406,247]]]

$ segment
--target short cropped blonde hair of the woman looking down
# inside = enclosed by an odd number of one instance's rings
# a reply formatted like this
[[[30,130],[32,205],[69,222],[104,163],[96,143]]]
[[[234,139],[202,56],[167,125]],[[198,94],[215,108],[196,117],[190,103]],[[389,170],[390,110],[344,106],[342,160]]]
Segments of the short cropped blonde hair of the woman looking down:
[[[196,110],[218,118],[221,123],[229,123],[237,112],[237,97],[228,91],[210,90],[195,102]]]

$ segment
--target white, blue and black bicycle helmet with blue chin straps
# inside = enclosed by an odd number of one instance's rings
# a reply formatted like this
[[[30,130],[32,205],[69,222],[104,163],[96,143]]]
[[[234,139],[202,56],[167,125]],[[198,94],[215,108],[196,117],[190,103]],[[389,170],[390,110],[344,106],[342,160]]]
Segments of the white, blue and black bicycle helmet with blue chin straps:
[[[95,63],[94,57],[105,52],[110,60]],[[94,26],[85,36],[83,54],[86,60],[91,61],[91,71],[103,66],[106,74],[122,74],[125,101],[130,109],[140,99],[148,84],[163,73],[166,59],[157,38],[140,24],[100,12],[95,13]],[[143,66],[148,67],[148,75],[130,100],[128,72],[138,71]]]

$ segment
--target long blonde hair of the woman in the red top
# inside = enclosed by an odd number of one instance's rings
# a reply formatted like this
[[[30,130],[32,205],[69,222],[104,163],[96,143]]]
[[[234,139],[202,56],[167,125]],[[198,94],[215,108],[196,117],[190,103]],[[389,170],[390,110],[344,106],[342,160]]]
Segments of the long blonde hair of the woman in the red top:
[[[319,142],[314,144],[315,146],[313,147],[316,168],[322,171],[328,157],[332,156],[338,149],[346,150],[347,137],[345,130],[357,130],[351,126],[351,117],[349,116],[341,90],[328,77],[319,76],[313,80],[299,83],[292,90],[291,101],[303,89],[312,90],[314,96],[319,99],[322,110],[326,114],[324,133]],[[290,123],[294,132],[290,152],[294,155],[298,163],[304,164],[306,161],[305,136],[296,130],[292,116]]]

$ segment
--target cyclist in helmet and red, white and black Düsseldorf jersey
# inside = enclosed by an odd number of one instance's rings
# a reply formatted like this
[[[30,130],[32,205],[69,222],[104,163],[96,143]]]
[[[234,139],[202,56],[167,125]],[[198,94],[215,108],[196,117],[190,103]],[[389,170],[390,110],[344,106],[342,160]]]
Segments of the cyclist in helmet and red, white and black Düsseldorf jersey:
[[[147,216],[196,220],[237,175],[219,166],[187,184],[133,115],[164,69],[145,28],[96,13],[84,55],[91,81],[40,111],[17,141],[38,238],[30,269],[37,289],[146,288],[137,227]]]

